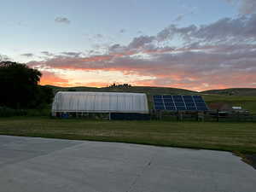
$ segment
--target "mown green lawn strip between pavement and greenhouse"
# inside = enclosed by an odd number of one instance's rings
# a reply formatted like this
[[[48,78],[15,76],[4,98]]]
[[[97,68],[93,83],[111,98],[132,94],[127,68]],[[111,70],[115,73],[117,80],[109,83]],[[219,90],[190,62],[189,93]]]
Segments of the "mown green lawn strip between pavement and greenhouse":
[[[256,154],[255,123],[2,118],[0,134],[207,148]]]

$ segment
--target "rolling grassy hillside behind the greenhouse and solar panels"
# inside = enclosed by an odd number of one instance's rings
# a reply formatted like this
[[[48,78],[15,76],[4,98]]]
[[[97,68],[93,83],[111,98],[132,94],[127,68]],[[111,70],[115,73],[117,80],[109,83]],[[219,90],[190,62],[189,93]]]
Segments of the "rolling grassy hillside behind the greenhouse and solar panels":
[[[129,88],[114,87],[114,88],[96,88],[96,87],[56,87],[51,86],[55,92],[57,91],[96,91],[96,92],[135,92],[146,93],[148,96],[149,108],[153,108],[152,96],[154,95],[201,95],[206,100],[207,104],[214,102],[224,102],[231,106],[241,106],[244,109],[250,110],[251,113],[256,113],[256,89],[253,88],[237,88],[226,90],[206,90],[197,92],[193,90],[183,90],[167,87],[146,87],[134,86]]]

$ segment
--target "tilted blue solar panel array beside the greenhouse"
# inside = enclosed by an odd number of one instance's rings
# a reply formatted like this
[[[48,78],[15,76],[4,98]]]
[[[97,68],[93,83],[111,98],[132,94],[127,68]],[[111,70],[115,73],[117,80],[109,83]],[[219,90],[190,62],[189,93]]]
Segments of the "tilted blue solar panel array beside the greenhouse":
[[[153,96],[155,110],[207,111],[201,96]]]

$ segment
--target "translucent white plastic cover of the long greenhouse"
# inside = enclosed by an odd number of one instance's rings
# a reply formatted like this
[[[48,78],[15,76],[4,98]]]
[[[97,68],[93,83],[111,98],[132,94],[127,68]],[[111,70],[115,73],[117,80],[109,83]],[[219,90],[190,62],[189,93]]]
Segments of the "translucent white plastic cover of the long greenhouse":
[[[144,93],[60,91],[52,105],[56,112],[148,113],[148,100]]]

